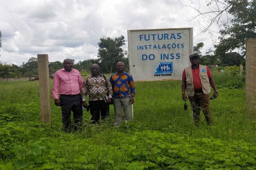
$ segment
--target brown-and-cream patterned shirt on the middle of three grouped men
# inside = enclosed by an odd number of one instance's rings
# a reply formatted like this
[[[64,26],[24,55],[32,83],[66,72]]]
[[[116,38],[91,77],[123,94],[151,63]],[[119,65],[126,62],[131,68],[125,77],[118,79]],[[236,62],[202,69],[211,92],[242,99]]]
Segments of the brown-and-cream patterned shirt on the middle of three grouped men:
[[[107,80],[107,87],[105,78]],[[105,78],[103,74],[100,74],[99,77],[93,77],[92,75],[85,77],[82,87],[82,100],[86,101],[87,94],[89,95],[89,101],[104,100],[104,96],[111,98],[113,95],[111,83],[108,81],[107,76]]]

